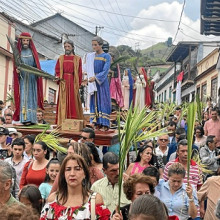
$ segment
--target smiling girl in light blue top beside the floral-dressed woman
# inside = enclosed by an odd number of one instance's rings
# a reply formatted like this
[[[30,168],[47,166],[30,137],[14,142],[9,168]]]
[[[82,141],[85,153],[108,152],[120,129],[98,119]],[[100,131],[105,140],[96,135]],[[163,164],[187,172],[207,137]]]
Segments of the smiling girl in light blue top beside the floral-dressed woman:
[[[47,197],[50,194],[50,191],[52,189],[52,185],[54,183],[54,180],[57,176],[57,174],[60,171],[60,162],[56,158],[52,158],[46,167],[46,177],[43,183],[39,186],[39,190],[42,196],[42,199],[44,202],[47,200]]]

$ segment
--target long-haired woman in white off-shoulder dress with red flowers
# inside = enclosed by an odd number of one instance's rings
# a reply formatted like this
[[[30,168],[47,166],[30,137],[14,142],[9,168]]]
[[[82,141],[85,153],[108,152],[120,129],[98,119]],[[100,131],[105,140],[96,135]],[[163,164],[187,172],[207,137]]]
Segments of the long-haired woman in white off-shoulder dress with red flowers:
[[[101,195],[90,191],[89,170],[81,156],[67,156],[59,175],[59,190],[49,197],[40,220],[109,219],[111,213],[103,205]],[[92,197],[95,210],[91,210]]]

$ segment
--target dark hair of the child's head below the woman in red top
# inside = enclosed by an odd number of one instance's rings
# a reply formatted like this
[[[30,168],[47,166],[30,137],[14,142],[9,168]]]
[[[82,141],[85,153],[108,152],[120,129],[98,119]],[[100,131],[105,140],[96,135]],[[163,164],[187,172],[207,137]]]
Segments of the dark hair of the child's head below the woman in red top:
[[[42,197],[40,190],[35,185],[26,185],[22,188],[19,194],[19,201],[21,197],[27,198],[32,207],[40,214],[42,209]]]

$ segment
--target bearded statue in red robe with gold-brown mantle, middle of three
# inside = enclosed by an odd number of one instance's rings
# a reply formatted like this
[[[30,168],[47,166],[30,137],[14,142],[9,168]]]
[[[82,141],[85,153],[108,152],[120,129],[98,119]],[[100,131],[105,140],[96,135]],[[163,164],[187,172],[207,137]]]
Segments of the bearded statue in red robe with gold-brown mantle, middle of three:
[[[79,87],[82,82],[82,61],[74,53],[72,40],[64,42],[65,55],[56,63],[56,80],[59,84],[56,122],[62,124],[64,119],[83,119]]]

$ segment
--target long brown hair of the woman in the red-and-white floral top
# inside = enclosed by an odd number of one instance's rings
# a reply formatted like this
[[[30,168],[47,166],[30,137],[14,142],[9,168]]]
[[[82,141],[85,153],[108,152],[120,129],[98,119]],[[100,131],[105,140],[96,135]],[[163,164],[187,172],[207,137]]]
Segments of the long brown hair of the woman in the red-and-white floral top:
[[[60,173],[59,173],[59,178],[58,178],[58,196],[59,196],[59,201],[62,201],[62,205],[66,203],[67,198],[68,198],[68,188],[67,188],[67,182],[65,178],[65,169],[66,169],[66,164],[69,160],[75,160],[79,166],[82,167],[84,174],[85,174],[85,179],[82,182],[82,195],[83,195],[83,203],[86,201],[86,197],[88,196],[88,193],[90,192],[90,174],[89,174],[89,168],[83,159],[82,156],[78,154],[72,154],[67,156],[60,168]]]

